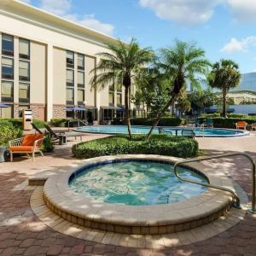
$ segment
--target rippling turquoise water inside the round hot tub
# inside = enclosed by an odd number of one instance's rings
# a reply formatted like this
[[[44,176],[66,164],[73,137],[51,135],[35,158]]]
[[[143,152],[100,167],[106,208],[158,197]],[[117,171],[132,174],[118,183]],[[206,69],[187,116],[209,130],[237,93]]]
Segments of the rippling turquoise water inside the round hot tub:
[[[181,168],[182,177],[207,183],[201,175]],[[131,206],[160,205],[201,195],[205,187],[183,183],[173,172],[173,165],[129,160],[94,166],[74,177],[73,191],[96,201]]]

